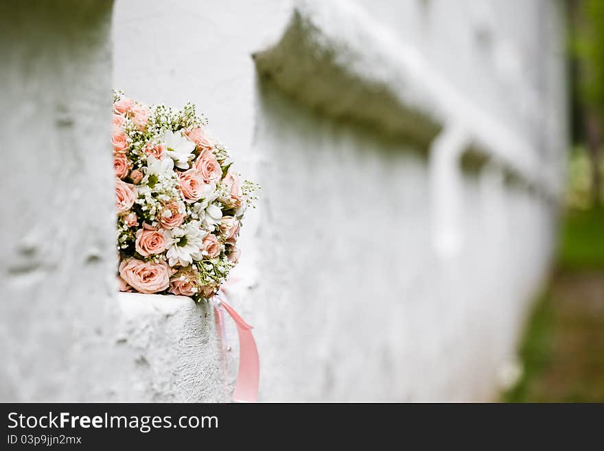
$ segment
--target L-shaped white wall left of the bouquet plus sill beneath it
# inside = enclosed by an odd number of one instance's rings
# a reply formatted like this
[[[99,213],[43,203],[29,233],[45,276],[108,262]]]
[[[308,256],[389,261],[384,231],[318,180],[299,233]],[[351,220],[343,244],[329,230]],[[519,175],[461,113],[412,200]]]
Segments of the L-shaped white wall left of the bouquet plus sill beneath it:
[[[117,297],[111,14],[0,3],[0,401],[226,401],[210,310]]]

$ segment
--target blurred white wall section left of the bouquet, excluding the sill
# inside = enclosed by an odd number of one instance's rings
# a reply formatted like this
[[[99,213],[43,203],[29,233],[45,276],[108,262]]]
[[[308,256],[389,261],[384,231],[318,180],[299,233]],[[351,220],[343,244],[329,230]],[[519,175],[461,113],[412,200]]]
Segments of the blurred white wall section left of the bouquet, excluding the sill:
[[[83,400],[106,373],[111,6],[0,3],[2,401]]]

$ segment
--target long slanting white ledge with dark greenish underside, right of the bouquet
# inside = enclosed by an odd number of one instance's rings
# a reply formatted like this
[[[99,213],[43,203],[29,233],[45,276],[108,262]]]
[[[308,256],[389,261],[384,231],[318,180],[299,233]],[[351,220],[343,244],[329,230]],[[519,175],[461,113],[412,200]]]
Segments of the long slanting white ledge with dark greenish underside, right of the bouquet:
[[[332,117],[429,148],[442,128],[537,191],[555,194],[539,152],[441,78],[413,47],[353,3],[299,1],[281,39],[253,55],[259,73]],[[547,173],[547,174],[546,174]]]

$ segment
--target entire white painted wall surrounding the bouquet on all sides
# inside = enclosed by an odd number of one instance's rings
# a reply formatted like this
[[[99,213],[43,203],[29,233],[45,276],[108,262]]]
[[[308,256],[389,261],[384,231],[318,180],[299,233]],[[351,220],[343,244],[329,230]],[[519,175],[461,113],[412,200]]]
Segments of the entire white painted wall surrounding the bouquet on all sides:
[[[108,120],[102,125],[110,98],[101,100],[111,84],[143,102],[196,102],[240,172],[263,185],[242,230],[243,281],[231,297],[255,325],[260,400],[496,395],[555,233],[555,203],[545,199],[559,189],[566,143],[556,2],[117,0],[113,82],[109,11],[81,8],[95,19],[69,25],[69,39],[56,31],[60,11],[43,7],[34,16],[19,10],[15,25],[0,31],[3,41],[21,43],[2,49],[10,62],[0,70],[3,86],[12,86],[3,104],[18,105],[3,117],[5,136],[32,123],[45,130],[10,135],[5,145],[20,152],[8,152],[9,161],[33,167],[48,193],[25,196],[24,172],[3,181],[24,194],[1,205],[19,218],[3,234],[10,251],[0,274],[8,287],[0,334],[10,365],[0,373],[2,400],[229,397],[233,327],[220,343],[207,308],[113,296]],[[316,25],[303,32],[310,52],[271,50],[291,29],[294,8]],[[47,57],[21,27],[32,21],[47,24]],[[313,70],[321,51],[335,62]],[[258,68],[272,80],[259,80],[251,58],[258,52]],[[309,68],[301,84],[288,75]],[[49,70],[56,76],[42,75]],[[71,86],[77,95],[62,102]],[[336,89],[342,95],[325,108],[325,93]],[[336,120],[355,117],[359,92],[375,100],[378,91],[392,114],[377,108],[371,126],[367,117]],[[64,111],[76,118],[67,135]],[[413,130],[399,120],[408,111],[442,130],[423,143],[429,152],[380,131]],[[456,170],[454,156],[477,143],[491,163]],[[69,151],[80,163],[67,172],[32,166],[42,153],[26,150],[43,144],[55,159]],[[533,190],[506,183],[510,169]],[[82,185],[93,188],[84,195]],[[51,214],[49,199],[69,196],[71,215],[84,222]],[[55,253],[45,251],[52,246]],[[98,251],[89,258],[91,248]],[[235,349],[225,353],[225,345]]]

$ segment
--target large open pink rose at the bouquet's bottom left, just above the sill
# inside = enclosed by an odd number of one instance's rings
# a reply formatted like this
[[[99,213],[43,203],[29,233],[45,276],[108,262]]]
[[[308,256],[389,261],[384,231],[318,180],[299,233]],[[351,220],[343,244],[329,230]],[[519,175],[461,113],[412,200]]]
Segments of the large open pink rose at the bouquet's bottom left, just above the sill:
[[[170,267],[166,262],[143,262],[129,258],[119,264],[119,275],[141,293],[156,293],[170,286]]]

